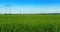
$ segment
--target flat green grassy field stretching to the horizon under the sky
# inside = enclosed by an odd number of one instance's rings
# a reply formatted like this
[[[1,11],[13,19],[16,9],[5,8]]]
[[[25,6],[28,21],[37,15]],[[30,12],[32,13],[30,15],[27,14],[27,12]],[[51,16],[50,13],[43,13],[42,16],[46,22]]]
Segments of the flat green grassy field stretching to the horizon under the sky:
[[[0,15],[0,32],[60,32],[60,14]]]

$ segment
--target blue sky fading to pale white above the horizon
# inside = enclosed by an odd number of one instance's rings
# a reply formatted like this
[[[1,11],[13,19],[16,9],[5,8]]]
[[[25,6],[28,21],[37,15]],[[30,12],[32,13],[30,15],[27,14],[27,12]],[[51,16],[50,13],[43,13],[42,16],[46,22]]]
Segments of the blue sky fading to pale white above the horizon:
[[[60,13],[60,0],[0,0],[0,13]]]

